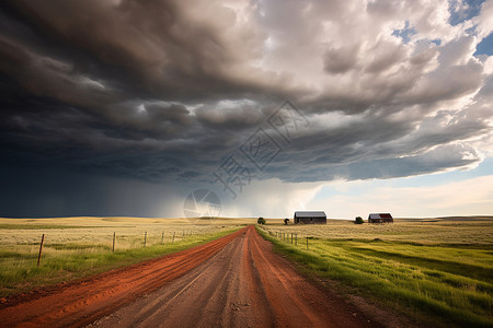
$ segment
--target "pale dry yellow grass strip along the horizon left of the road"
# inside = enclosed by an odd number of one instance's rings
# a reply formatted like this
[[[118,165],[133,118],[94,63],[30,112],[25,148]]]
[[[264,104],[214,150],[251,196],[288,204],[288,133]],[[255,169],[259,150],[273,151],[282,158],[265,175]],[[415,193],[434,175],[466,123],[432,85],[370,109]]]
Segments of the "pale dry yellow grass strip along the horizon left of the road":
[[[117,247],[135,247],[147,244],[171,242],[173,235],[180,239],[183,235],[209,234],[238,225],[253,224],[253,219],[188,219],[188,218],[50,218],[50,219],[4,219],[0,218],[0,245],[33,245],[41,242],[49,244],[91,244],[111,245],[116,233]]]

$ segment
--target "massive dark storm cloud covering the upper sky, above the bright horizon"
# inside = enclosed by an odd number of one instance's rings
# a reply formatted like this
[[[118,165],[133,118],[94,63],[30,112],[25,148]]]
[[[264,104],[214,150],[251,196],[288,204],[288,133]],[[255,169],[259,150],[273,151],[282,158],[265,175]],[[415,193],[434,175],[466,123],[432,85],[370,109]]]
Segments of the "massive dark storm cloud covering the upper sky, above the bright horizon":
[[[492,151],[478,140],[492,131],[493,61],[473,57],[489,11],[452,26],[439,19],[450,10],[444,1],[4,1],[2,165],[208,181],[291,98],[310,126],[259,178],[467,167]]]

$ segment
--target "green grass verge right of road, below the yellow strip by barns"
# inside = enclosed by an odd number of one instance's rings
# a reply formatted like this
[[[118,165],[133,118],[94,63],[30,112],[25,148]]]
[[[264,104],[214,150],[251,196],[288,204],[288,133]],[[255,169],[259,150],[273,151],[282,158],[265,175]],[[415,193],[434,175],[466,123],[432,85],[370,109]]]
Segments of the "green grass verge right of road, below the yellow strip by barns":
[[[298,246],[257,229],[308,273],[429,326],[493,326],[493,246],[416,245],[372,239],[306,238]]]

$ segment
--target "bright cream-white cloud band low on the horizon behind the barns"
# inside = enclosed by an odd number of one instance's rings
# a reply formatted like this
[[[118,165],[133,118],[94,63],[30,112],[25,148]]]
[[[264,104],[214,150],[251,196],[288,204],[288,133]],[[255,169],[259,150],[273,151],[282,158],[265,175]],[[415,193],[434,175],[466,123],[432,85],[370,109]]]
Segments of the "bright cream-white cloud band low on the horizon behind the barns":
[[[481,176],[437,186],[395,187],[392,180],[344,181],[341,195],[309,202],[325,209],[330,218],[365,218],[370,212],[390,212],[397,218],[432,218],[493,213],[493,176]],[[359,190],[364,190],[363,192]]]

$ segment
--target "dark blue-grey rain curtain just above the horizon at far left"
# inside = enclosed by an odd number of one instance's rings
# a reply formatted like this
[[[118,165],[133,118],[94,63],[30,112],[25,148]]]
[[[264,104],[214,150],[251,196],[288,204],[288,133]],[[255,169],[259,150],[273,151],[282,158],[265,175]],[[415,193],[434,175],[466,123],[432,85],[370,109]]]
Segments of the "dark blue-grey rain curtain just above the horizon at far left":
[[[2,190],[2,216],[157,216],[164,209],[168,215],[183,215],[176,211],[182,201],[176,195],[185,192],[182,186],[43,166],[2,167],[0,178],[2,187],[8,186]]]

